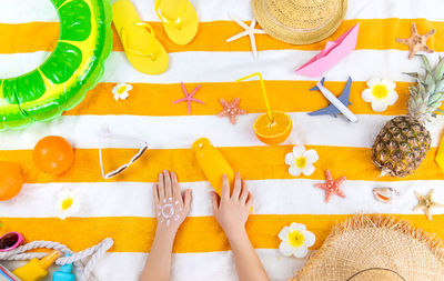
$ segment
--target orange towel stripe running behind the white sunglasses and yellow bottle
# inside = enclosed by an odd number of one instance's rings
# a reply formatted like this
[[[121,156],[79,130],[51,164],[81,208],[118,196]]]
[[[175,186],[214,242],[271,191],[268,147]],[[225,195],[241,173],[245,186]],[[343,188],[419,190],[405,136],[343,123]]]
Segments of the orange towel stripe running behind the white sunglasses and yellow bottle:
[[[295,124],[296,127],[297,124]],[[250,132],[253,133],[253,132]],[[346,138],[346,136],[344,136]],[[379,178],[380,171],[371,161],[371,150],[365,148],[321,147],[310,145],[315,149],[320,160],[315,163],[316,171],[300,178],[324,179],[324,170],[330,169],[334,177],[346,175],[350,180],[366,181],[400,181],[400,180],[444,180],[444,172],[434,161],[436,149],[433,148],[421,168],[407,178],[392,177]],[[284,158],[292,151],[291,145],[280,147],[243,147],[221,148],[223,155],[234,170],[241,172],[246,180],[266,179],[294,179],[287,172]],[[120,167],[128,162],[135,153],[132,149],[104,150],[105,167]],[[0,151],[0,160],[20,163],[26,175],[26,181],[34,182],[101,182],[98,150],[75,149],[73,167],[59,177],[50,177],[37,170],[32,163],[30,150]],[[110,169],[110,168],[107,168]],[[194,155],[189,149],[150,150],[128,171],[110,181],[154,182],[158,173],[163,169],[175,171],[181,181],[193,182],[205,180]]]

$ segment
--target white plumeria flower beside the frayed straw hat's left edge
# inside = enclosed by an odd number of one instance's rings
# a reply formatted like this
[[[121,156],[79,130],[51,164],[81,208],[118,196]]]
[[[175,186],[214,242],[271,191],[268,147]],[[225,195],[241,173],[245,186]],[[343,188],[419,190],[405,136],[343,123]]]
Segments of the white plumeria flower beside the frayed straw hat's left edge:
[[[286,257],[304,258],[309,253],[309,247],[316,241],[315,235],[306,230],[305,224],[295,222],[283,228],[278,237],[282,240],[279,250]]]

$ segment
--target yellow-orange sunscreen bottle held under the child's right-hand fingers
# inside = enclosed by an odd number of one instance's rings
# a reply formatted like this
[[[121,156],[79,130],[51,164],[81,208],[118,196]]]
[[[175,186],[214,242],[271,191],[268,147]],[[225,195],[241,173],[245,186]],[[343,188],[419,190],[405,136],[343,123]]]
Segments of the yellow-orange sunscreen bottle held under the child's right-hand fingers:
[[[234,171],[222,153],[211,144],[210,140],[202,138],[193,143],[193,152],[211,185],[222,195],[222,175],[229,177],[230,187],[234,183]],[[231,191],[230,191],[231,193]]]

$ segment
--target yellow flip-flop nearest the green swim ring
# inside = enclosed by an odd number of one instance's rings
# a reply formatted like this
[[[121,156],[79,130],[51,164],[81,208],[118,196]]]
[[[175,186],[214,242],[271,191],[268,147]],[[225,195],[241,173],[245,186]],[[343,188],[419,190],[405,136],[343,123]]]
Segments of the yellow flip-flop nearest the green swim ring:
[[[113,22],[131,64],[140,72],[160,74],[168,69],[169,59],[154,30],[142,22],[130,0],[112,4]]]

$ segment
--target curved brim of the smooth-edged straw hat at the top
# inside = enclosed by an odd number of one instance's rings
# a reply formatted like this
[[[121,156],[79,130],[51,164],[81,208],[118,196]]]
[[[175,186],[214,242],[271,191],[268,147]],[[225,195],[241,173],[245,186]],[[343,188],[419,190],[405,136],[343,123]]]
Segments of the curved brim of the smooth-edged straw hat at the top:
[[[266,0],[252,0],[251,7],[259,24],[271,37],[292,44],[310,44],[330,37],[341,26],[347,9],[347,0],[337,1],[340,4],[339,12],[331,14],[321,27],[312,30],[294,29],[283,24],[269,11]],[[297,14],[293,17],[297,18]]]

